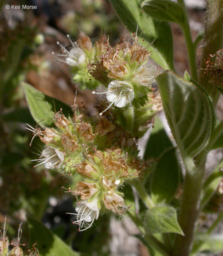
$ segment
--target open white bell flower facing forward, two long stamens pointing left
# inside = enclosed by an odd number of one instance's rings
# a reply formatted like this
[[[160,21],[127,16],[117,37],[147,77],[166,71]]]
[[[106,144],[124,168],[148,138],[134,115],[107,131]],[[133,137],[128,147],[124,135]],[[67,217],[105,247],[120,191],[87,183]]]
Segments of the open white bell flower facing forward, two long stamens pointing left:
[[[134,99],[133,87],[126,81],[114,80],[109,83],[108,90],[106,92],[92,92],[93,94],[104,94],[106,98],[111,101],[109,106],[103,111],[106,112],[113,104],[118,108],[125,107],[128,103],[131,107],[131,102]],[[99,115],[101,116],[101,112]]]

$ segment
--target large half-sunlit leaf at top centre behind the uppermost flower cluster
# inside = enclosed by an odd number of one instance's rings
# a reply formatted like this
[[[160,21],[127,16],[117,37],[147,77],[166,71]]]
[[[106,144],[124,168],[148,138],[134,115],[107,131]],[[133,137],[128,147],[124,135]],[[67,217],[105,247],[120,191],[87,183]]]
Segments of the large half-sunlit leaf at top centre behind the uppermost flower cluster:
[[[141,34],[145,46],[153,51],[151,58],[164,69],[174,69],[172,31],[168,22],[153,20],[141,9],[141,0],[110,0],[119,18],[130,32]]]

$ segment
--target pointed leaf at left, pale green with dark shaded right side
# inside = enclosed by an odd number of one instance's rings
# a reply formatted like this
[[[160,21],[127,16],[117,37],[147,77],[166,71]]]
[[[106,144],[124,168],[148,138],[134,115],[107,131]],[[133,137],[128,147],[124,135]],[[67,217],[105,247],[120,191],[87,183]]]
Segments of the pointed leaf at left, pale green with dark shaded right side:
[[[33,119],[36,123],[44,119],[39,123],[41,127],[53,126],[54,112],[59,111],[60,108],[62,108],[65,116],[71,114],[70,106],[37,91],[31,85],[23,83],[23,90]],[[56,110],[54,106],[56,106]]]

